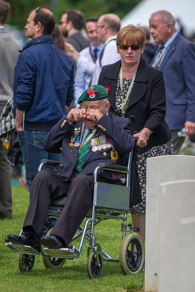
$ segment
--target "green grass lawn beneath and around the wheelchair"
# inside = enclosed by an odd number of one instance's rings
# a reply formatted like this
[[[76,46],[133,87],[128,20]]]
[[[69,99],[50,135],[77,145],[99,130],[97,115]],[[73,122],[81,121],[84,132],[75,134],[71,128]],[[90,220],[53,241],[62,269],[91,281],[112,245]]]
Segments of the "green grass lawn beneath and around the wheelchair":
[[[29,204],[29,193],[20,186],[12,187],[12,219],[0,220],[0,291],[1,292],[135,292],[143,291],[144,269],[137,275],[123,275],[119,263],[103,262],[99,279],[90,280],[87,275],[87,247],[79,259],[66,260],[60,269],[46,269],[41,256],[35,257],[30,272],[21,273],[18,266],[19,253],[5,246],[9,233],[19,234]],[[128,215],[130,221],[130,215]],[[106,220],[95,227],[96,238],[101,247],[112,257],[118,258],[122,240],[121,221]],[[75,242],[78,247],[77,239]]]

